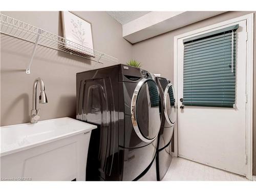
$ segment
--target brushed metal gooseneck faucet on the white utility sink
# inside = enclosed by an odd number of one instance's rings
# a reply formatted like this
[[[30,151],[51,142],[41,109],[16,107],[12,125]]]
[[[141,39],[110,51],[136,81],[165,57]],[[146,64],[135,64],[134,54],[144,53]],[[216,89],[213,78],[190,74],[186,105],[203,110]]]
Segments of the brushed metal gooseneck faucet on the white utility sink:
[[[42,79],[40,77],[36,78],[34,81],[34,85],[33,85],[33,101],[32,101],[32,110],[31,110],[31,116],[30,116],[30,122],[31,123],[37,123],[38,120],[40,119],[39,111],[40,109],[36,109],[36,88],[37,88],[37,83],[40,83],[40,90],[41,93],[39,95],[39,103],[47,103],[47,97],[46,97],[46,93],[45,93],[45,85],[44,85],[44,81],[42,81]]]

